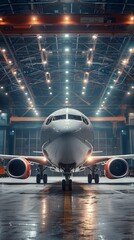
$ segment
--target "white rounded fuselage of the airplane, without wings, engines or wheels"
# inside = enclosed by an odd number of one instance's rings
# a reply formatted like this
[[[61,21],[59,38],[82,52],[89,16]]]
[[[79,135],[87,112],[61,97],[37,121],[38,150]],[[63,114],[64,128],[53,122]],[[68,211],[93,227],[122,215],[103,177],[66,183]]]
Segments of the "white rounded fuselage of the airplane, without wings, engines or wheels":
[[[80,166],[93,151],[93,128],[89,119],[71,108],[52,113],[41,131],[42,151],[59,169],[70,171]]]

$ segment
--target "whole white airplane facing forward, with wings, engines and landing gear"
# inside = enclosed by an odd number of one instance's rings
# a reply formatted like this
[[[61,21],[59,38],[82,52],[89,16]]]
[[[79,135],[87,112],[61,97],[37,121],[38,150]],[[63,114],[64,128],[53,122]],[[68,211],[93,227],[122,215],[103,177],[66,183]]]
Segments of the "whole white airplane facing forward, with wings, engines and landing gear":
[[[25,179],[30,176],[31,163],[38,164],[36,182],[43,179],[47,183],[44,170],[63,172],[62,189],[72,189],[73,172],[89,168],[88,183],[94,179],[99,183],[98,164],[103,163],[108,178],[122,178],[128,174],[127,159],[134,154],[115,156],[95,156],[93,151],[93,128],[89,119],[81,112],[63,108],[52,113],[41,130],[43,156],[17,156],[0,154],[1,159],[9,160],[7,173],[13,178]]]

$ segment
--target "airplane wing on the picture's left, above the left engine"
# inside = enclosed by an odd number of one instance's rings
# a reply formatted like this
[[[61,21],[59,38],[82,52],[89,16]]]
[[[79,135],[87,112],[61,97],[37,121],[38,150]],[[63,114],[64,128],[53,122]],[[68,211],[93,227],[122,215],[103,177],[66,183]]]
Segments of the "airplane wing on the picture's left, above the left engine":
[[[17,159],[26,159],[29,162],[37,163],[37,164],[43,164],[43,165],[50,165],[49,161],[44,156],[19,156],[19,155],[4,155],[0,154],[0,161],[10,161],[13,158]]]

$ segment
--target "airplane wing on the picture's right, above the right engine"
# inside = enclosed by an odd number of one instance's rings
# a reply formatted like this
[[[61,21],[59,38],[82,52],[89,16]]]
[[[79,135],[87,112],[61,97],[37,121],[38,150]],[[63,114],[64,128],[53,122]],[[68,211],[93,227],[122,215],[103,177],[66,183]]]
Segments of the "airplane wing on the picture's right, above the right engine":
[[[105,163],[109,159],[119,159],[123,158],[125,160],[132,159],[134,160],[134,154],[127,154],[127,155],[109,155],[109,156],[89,156],[87,157],[86,161],[84,162],[84,166],[88,167],[91,165],[99,164],[99,163]]]

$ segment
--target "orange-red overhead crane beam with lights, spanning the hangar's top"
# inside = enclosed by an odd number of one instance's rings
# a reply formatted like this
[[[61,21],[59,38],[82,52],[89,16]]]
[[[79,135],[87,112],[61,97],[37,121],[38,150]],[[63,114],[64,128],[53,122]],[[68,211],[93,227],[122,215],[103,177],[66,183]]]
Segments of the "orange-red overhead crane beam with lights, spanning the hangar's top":
[[[64,27],[63,27],[64,26]],[[3,34],[103,33],[133,34],[134,17],[122,14],[44,14],[0,16]]]

